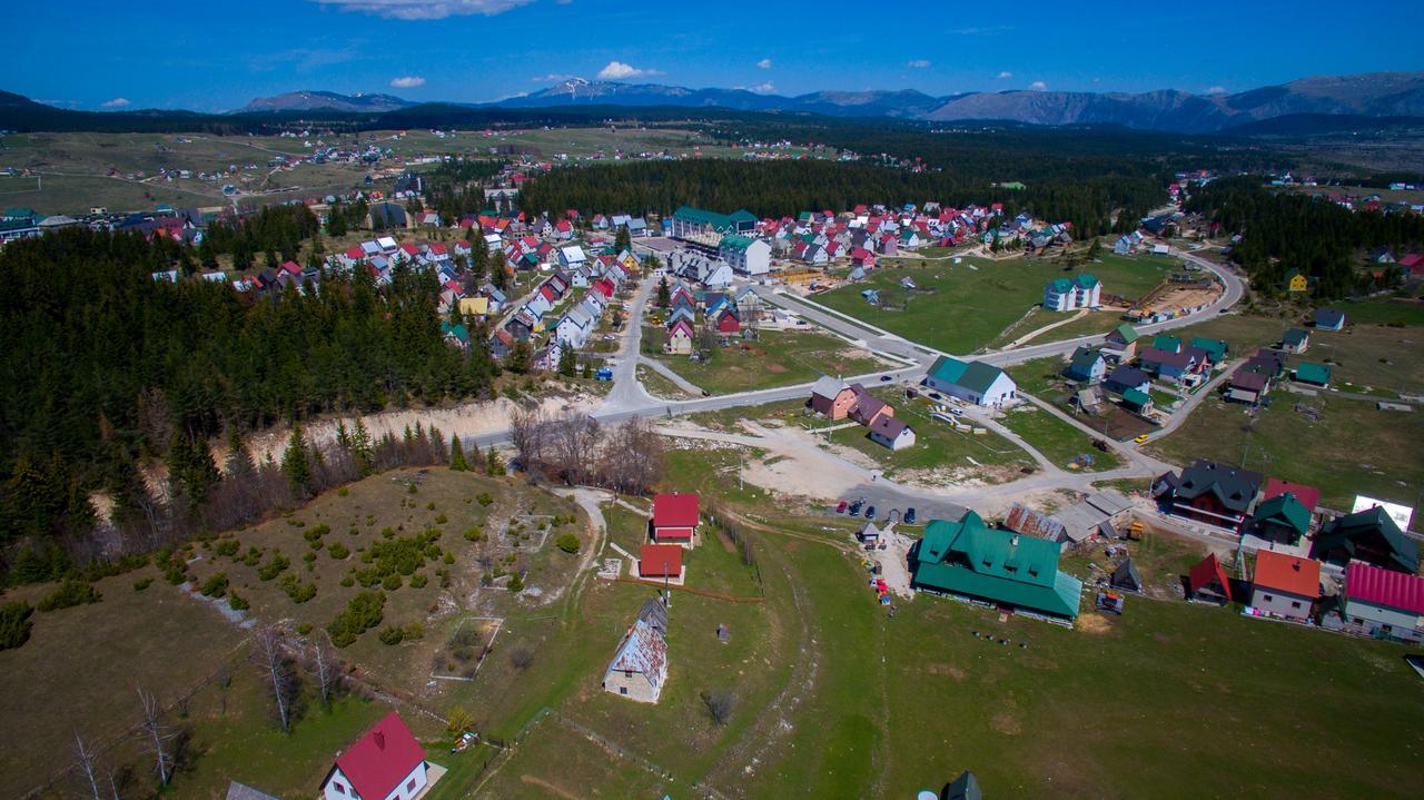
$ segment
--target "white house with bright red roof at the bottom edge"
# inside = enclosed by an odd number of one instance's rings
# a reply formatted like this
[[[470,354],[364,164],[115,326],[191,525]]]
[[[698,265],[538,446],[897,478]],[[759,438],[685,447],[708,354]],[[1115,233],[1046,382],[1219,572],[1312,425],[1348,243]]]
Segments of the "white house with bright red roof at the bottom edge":
[[[412,800],[424,793],[426,750],[400,715],[390,712],[345,753],[322,780],[325,800]]]

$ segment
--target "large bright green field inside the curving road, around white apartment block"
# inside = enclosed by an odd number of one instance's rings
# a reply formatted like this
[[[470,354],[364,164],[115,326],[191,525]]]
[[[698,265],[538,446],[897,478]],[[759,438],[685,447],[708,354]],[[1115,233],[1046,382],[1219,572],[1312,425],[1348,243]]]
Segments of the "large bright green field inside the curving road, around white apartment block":
[[[903,266],[877,269],[862,283],[817,295],[816,300],[921,344],[950,353],[971,353],[988,346],[1031,306],[1042,302],[1044,283],[1074,275],[1065,272],[1062,265],[1042,259],[994,262],[964,258],[958,265],[947,260],[918,266],[913,260],[900,263]],[[1155,286],[1172,266],[1173,260],[1162,258],[1104,256],[1101,263],[1089,263],[1078,272],[1096,275],[1105,292],[1131,298]],[[901,278],[911,278],[926,292],[900,289]],[[881,303],[867,303],[860,296],[864,289],[877,289]],[[1044,322],[1034,327],[1052,322],[1049,316],[1035,313],[1034,319]],[[1104,323],[1102,330],[1112,327],[1101,316],[1094,320]],[[1085,333],[1095,330],[1077,335]]]

